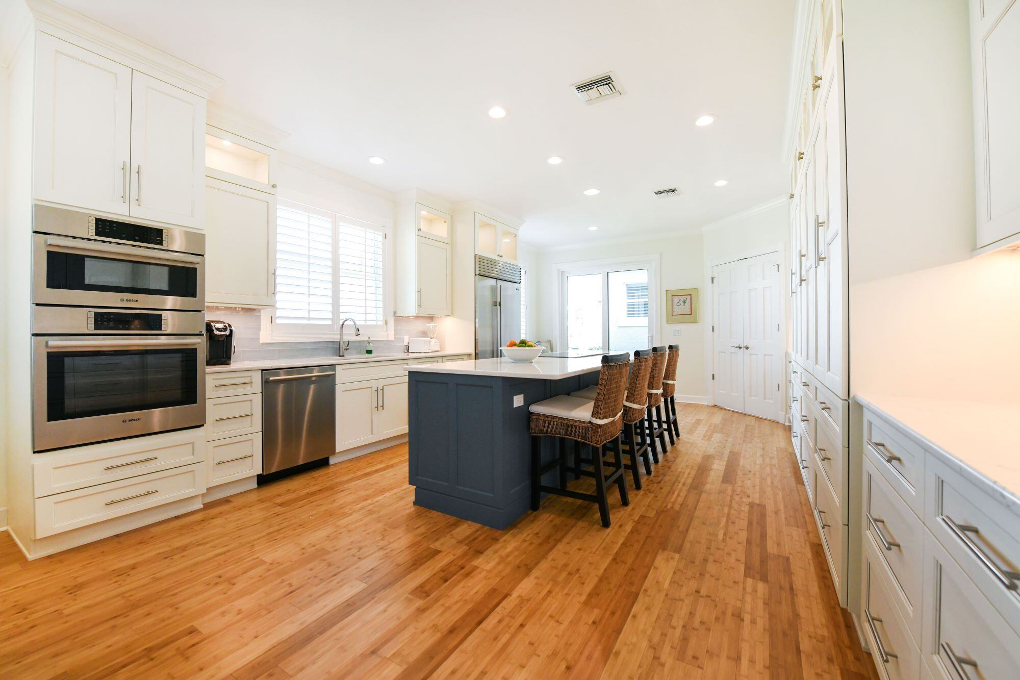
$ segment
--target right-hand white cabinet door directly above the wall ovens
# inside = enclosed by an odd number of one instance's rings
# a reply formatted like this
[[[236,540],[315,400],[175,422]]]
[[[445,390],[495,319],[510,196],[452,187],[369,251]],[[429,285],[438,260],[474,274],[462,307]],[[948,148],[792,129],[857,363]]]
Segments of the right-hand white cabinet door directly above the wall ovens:
[[[131,144],[132,215],[203,227],[205,100],[135,71]]]

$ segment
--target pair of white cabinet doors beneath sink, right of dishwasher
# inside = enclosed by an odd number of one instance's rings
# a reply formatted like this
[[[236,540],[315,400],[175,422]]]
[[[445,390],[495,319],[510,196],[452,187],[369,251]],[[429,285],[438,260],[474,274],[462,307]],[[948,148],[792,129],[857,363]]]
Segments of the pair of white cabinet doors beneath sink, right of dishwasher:
[[[337,385],[337,451],[407,432],[407,376]]]

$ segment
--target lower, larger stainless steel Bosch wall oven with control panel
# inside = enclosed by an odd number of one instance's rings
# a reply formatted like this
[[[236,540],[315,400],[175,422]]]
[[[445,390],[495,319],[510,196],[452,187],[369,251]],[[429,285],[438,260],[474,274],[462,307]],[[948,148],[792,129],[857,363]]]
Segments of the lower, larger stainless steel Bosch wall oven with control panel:
[[[33,448],[205,423],[197,311],[33,307]]]

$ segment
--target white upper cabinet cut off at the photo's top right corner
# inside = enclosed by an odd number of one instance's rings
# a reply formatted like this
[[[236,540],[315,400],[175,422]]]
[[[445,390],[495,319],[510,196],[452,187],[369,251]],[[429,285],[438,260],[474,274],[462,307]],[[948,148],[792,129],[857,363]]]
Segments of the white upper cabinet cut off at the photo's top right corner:
[[[977,247],[1020,242],[1020,3],[970,0]]]

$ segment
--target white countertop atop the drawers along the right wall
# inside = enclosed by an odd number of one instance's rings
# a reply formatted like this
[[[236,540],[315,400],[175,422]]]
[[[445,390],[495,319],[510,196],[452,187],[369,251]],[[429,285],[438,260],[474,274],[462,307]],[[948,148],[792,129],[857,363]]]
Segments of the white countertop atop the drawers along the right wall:
[[[858,394],[930,453],[1020,514],[1020,403]]]

